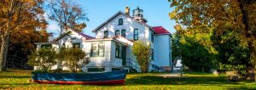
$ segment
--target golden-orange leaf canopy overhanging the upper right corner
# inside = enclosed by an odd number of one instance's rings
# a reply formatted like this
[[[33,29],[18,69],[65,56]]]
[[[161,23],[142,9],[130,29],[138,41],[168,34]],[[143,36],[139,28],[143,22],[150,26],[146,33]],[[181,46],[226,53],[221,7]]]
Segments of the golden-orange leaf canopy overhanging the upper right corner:
[[[211,25],[220,33],[228,29],[246,32],[240,4],[236,0],[171,0],[171,8],[175,8],[170,14],[177,24],[187,27]],[[245,4],[248,20],[256,32],[256,3]]]

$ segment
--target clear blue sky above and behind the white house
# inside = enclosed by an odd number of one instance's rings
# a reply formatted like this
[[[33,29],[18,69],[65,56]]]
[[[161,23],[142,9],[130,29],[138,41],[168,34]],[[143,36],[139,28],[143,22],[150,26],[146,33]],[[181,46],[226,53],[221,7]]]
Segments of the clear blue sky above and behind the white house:
[[[75,0],[76,3],[84,8],[89,21],[86,21],[87,27],[84,28],[84,34],[95,37],[92,33],[97,26],[108,20],[113,14],[119,11],[125,12],[125,7],[130,7],[131,11],[137,7],[144,10],[144,16],[150,26],[163,26],[171,33],[175,32],[173,28],[176,25],[175,20],[170,20],[169,13],[173,10],[167,0]],[[49,22],[48,31],[53,32],[59,27],[54,22]]]

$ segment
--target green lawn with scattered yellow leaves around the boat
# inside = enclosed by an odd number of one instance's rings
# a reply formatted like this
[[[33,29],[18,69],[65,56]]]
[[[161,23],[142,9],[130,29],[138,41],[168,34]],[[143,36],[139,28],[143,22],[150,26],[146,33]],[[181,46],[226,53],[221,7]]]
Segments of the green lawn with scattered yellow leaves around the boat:
[[[164,73],[167,74],[167,73]],[[256,83],[228,82],[227,76],[184,74],[186,78],[164,78],[160,73],[129,74],[124,85],[55,85],[29,82],[31,72],[12,70],[0,72],[0,89],[92,89],[92,90],[150,90],[150,89],[256,89]]]

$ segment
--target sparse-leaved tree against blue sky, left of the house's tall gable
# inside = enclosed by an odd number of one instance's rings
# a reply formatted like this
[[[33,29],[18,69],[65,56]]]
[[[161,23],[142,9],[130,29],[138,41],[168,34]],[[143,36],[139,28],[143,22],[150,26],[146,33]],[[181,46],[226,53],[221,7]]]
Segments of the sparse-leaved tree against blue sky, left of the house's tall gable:
[[[89,20],[79,4],[71,0],[49,0],[49,20],[54,20],[60,26],[60,35],[68,29],[81,32]]]

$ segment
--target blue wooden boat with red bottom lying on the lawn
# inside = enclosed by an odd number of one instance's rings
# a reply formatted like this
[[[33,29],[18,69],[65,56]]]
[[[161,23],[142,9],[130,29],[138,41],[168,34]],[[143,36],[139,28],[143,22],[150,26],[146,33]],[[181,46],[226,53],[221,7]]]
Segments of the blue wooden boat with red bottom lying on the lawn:
[[[102,73],[37,73],[32,81],[46,84],[124,84],[128,70]]]

